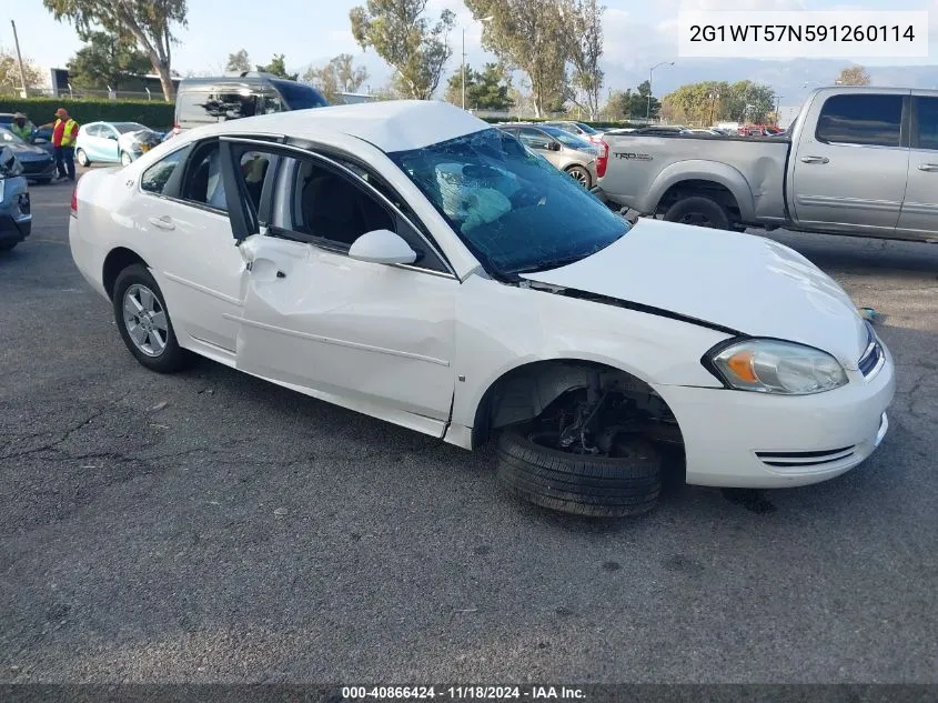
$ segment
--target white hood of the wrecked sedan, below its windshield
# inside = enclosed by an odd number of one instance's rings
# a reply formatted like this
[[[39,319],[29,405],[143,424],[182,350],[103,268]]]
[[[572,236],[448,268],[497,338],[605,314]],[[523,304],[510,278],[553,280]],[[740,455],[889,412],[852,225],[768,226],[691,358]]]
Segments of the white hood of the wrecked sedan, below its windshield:
[[[848,369],[868,342],[844,289],[798,252],[753,234],[639,220],[586,259],[523,278],[809,344]]]

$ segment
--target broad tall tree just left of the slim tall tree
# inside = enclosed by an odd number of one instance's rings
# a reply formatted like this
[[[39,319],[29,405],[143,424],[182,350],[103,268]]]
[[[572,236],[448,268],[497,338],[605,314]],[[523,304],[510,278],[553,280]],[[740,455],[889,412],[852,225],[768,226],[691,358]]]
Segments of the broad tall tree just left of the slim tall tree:
[[[566,61],[571,28],[564,22],[566,0],[465,0],[483,24],[482,46],[510,68],[527,76],[534,114],[542,117],[568,97]]]

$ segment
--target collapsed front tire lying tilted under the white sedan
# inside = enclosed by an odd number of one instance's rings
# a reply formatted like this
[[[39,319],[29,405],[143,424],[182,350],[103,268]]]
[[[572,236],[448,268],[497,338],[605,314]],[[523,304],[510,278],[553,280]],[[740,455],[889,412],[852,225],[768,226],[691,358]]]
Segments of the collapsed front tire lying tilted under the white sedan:
[[[591,518],[641,515],[660,494],[662,455],[638,436],[624,448],[616,458],[572,454],[512,426],[498,436],[496,472],[510,493],[543,508]]]

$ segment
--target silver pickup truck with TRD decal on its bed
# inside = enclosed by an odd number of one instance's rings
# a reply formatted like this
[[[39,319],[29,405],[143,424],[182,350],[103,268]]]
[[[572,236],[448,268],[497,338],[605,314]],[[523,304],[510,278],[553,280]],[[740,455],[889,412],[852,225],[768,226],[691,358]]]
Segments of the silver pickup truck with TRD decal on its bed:
[[[611,205],[717,229],[938,242],[938,91],[821,88],[781,138],[606,133]]]

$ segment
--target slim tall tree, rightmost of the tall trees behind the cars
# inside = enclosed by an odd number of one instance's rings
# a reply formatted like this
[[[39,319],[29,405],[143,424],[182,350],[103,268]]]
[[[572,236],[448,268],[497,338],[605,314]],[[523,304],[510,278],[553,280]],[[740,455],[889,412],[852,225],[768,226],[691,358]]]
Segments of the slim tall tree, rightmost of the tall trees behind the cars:
[[[573,66],[573,82],[584,96],[584,107],[589,119],[599,113],[599,92],[603,90],[603,12],[605,8],[596,0],[569,0],[564,16],[571,16],[569,61]],[[574,102],[579,102],[574,98]]]

